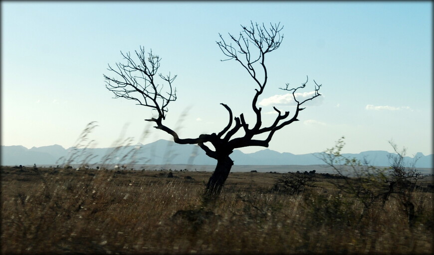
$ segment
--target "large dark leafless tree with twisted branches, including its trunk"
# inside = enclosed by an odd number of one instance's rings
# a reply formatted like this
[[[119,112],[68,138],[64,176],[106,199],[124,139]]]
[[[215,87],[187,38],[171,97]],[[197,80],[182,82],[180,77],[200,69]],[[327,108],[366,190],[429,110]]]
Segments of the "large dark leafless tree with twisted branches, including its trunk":
[[[221,191],[221,188],[229,175],[233,161],[229,155],[234,149],[248,147],[248,146],[262,146],[268,147],[274,133],[298,121],[298,114],[304,108],[301,106],[318,96],[321,85],[314,81],[314,94],[305,100],[297,100],[296,92],[306,86],[306,82],[302,83],[299,87],[281,88],[285,91],[292,92],[292,96],[296,103],[295,113],[292,117],[289,116],[289,111],[282,113],[276,107],[273,107],[277,113],[274,122],[269,126],[262,126],[261,108],[257,107],[257,100],[263,93],[265,85],[267,84],[267,67],[265,65],[265,56],[277,49],[283,39],[281,30],[283,26],[278,24],[270,24],[266,27],[264,24],[257,23],[249,27],[241,26],[242,30],[238,37],[229,33],[229,41],[226,42],[223,36],[219,34],[220,41],[217,42],[220,50],[225,56],[226,60],[237,61],[251,76],[253,83],[256,85],[256,93],[252,99],[252,110],[255,113],[256,121],[253,125],[246,123],[244,115],[240,114],[239,117],[233,117],[232,110],[226,104],[221,105],[227,110],[229,118],[227,125],[218,133],[201,134],[197,138],[180,138],[178,134],[163,124],[167,112],[168,104],[176,100],[176,89],[173,87],[173,82],[176,75],[162,75],[157,74],[160,67],[161,58],[154,53],[149,52],[145,54],[145,49],[140,47],[139,51],[135,51],[138,62],[131,57],[130,53],[122,56],[126,60],[126,64],[117,63],[116,68],[109,65],[108,70],[116,74],[117,77],[109,77],[104,75],[106,80],[106,88],[115,94],[115,98],[126,98],[137,101],[138,105],[150,107],[157,111],[157,117],[147,119],[147,121],[155,122],[155,128],[161,129],[166,133],[173,136],[174,142],[178,144],[197,144],[205,153],[217,160],[217,166],[210,177],[207,184],[206,197],[216,198]],[[162,83],[159,83],[162,82]],[[243,133],[241,137],[233,138],[237,132]],[[255,136],[266,134],[263,140],[255,139]],[[206,143],[209,142],[214,146],[214,150],[210,149]]]

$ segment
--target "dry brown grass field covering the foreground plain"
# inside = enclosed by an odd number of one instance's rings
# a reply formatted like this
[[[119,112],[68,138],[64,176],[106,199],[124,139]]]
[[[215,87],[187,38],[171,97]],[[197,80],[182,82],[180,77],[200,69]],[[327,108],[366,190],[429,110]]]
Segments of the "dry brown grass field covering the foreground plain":
[[[1,253],[433,252],[433,193],[415,193],[411,228],[393,199],[360,220],[363,206],[322,175],[318,188],[289,196],[271,192],[279,174],[231,173],[201,210],[211,173],[168,173],[2,167]]]

